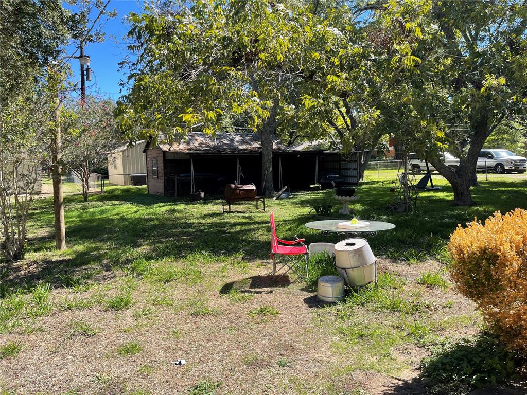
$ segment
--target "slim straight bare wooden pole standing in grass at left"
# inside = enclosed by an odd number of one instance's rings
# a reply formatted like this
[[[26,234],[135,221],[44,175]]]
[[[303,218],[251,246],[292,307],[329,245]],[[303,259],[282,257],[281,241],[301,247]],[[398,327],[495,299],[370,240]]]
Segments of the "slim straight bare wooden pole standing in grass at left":
[[[60,120],[60,102],[58,91],[55,101],[54,135],[51,141],[51,175],[53,178],[53,213],[55,219],[55,247],[66,249],[66,231],[64,225],[64,198],[62,196],[62,136]]]

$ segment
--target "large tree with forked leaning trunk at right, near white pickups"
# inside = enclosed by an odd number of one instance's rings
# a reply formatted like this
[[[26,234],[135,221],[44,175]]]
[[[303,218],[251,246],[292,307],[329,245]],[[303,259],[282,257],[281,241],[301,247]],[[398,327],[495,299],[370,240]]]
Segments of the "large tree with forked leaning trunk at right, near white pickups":
[[[402,97],[397,137],[447,179],[454,204],[473,204],[471,177],[487,137],[527,105],[527,7],[523,1],[376,2],[383,26],[401,26],[415,58],[394,91]],[[451,171],[438,158],[460,158]]]

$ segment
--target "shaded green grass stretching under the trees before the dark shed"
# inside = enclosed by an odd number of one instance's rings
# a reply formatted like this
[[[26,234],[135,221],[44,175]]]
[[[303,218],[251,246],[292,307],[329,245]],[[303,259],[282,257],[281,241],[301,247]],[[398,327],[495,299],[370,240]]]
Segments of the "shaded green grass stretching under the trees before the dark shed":
[[[366,181],[357,189],[360,199],[353,208],[359,218],[392,222],[397,226],[393,231],[368,238],[376,254],[389,252],[393,256],[404,256],[412,249],[428,252],[431,244],[446,240],[458,223],[471,221],[475,215],[482,218],[498,209],[508,211],[525,205],[526,185],[523,181],[486,182],[473,190],[474,198],[482,204],[471,208],[452,206],[451,188],[443,185],[442,191],[422,194],[413,213],[388,214],[385,206],[393,199],[389,192],[392,183]],[[91,196],[87,203],[80,195],[67,196],[66,242],[74,248],[67,251],[69,258],[57,256],[61,259],[58,264],[59,261],[48,259],[48,253],[54,250],[52,200],[42,199],[35,202],[31,211],[33,234],[28,244],[28,251],[36,253],[35,260],[40,263],[38,268],[24,274],[27,278],[16,281],[46,279],[52,285],[60,285],[59,274],[79,273],[91,264],[108,261],[112,252],[126,249],[138,250],[145,259],[155,260],[172,259],[193,251],[217,255],[241,253],[246,261],[268,259],[271,211],[275,211],[281,239],[292,240],[298,234],[307,243],[335,242],[335,238],[304,226],[306,222],[321,219],[308,214],[313,201],[330,196],[333,196],[332,190],[297,192],[290,199],[269,200],[265,213],[249,202],[230,215],[221,213],[221,196],[190,202],[187,197],[149,195],[145,187],[108,187],[106,193]],[[339,207],[340,203],[335,202],[330,218],[342,218],[337,213]],[[41,253],[43,257],[38,256]]]

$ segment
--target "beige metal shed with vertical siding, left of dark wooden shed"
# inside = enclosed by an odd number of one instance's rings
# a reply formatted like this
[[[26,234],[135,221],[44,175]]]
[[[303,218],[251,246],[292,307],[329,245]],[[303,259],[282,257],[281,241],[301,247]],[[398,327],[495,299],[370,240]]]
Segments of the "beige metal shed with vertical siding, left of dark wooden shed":
[[[124,145],[108,153],[108,181],[117,185],[132,185],[130,174],[146,174],[147,161],[143,153],[145,140]]]

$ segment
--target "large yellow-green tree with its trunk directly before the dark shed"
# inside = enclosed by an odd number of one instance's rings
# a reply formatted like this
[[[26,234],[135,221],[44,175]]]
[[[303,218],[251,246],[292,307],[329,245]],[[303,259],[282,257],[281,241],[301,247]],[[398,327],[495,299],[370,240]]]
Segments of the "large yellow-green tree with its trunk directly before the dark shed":
[[[197,1],[132,14],[130,50],[138,57],[118,103],[121,129],[172,140],[194,128],[214,133],[228,112],[246,114],[261,134],[267,195],[273,135],[327,137],[329,128],[354,146],[378,117],[375,99],[359,103],[360,88],[369,79],[375,94],[381,84],[375,62],[364,61],[370,51],[352,45],[359,35],[349,8],[331,4]]]

